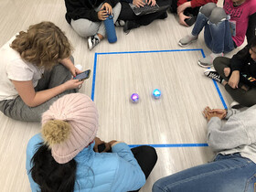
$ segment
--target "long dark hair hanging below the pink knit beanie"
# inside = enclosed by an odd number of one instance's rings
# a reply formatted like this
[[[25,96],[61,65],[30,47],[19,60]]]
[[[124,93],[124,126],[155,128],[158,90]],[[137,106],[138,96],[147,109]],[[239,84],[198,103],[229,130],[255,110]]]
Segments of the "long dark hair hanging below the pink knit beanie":
[[[77,162],[72,159],[66,164],[58,164],[46,144],[39,144],[31,159],[31,176],[41,192],[73,192]]]

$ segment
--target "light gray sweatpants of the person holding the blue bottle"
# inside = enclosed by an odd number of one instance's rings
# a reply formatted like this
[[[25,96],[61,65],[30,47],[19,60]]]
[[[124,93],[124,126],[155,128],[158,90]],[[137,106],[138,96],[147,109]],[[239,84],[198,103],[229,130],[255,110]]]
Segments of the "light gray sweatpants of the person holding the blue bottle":
[[[101,9],[99,5],[95,11],[98,12]],[[113,23],[116,22],[121,11],[121,4],[118,3],[112,8],[113,13]],[[80,18],[78,20],[71,19],[71,27],[80,35],[80,37],[91,37],[96,35],[97,33],[101,34],[103,37],[106,36],[106,29],[104,26],[104,22],[92,22],[89,19]]]

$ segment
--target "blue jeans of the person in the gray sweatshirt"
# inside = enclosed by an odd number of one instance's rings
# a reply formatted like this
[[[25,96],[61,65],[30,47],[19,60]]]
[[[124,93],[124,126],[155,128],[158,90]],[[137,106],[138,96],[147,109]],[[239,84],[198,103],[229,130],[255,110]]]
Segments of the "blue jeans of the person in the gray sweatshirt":
[[[256,164],[237,153],[161,178],[153,192],[253,192],[255,183]]]

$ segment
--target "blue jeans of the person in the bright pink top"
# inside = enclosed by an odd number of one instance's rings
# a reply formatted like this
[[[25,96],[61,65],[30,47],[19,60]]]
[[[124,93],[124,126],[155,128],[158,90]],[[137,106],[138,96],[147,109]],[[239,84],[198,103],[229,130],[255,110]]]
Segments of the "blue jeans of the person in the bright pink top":
[[[205,42],[213,53],[226,53],[235,48],[227,19],[213,24],[207,16],[199,12],[192,35],[198,36],[203,27],[205,27]]]

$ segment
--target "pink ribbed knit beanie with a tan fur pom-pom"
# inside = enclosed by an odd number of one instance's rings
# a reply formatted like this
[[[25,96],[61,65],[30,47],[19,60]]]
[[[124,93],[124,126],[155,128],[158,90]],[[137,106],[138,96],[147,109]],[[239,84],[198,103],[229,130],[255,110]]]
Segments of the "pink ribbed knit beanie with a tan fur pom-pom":
[[[65,164],[94,140],[98,112],[87,95],[70,93],[43,113],[42,126],[42,136],[51,148],[51,155],[59,164]]]

